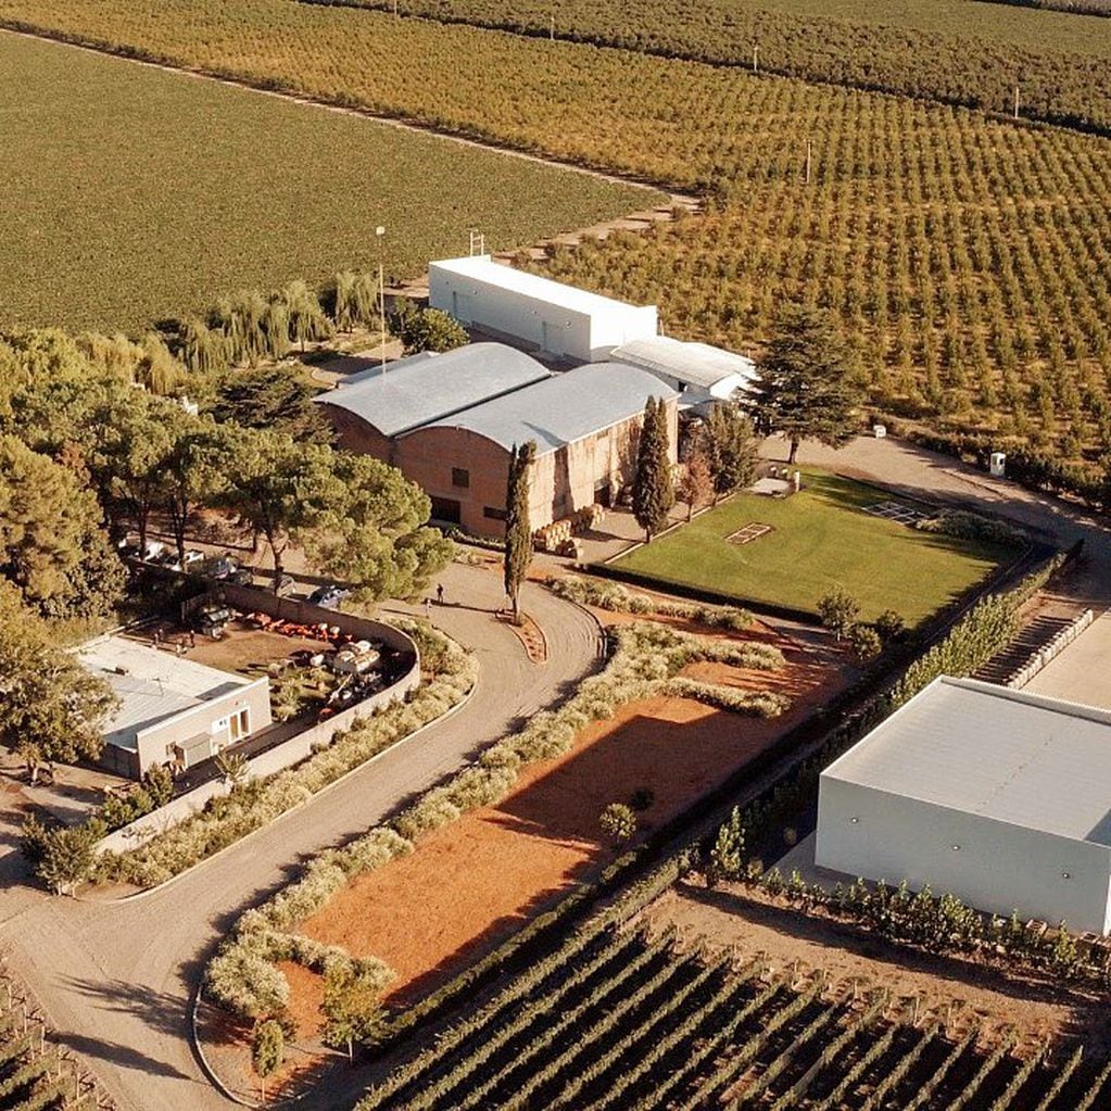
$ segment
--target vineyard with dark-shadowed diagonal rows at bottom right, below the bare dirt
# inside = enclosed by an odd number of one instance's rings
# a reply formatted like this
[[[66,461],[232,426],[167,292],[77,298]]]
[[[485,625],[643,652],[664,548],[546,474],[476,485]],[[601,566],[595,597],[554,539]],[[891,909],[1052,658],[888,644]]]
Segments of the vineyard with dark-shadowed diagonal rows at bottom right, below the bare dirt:
[[[1079,1049],[1019,1057],[917,1010],[671,932],[588,928],[358,1111],[1092,1111],[1111,1098],[1111,1064]]]

